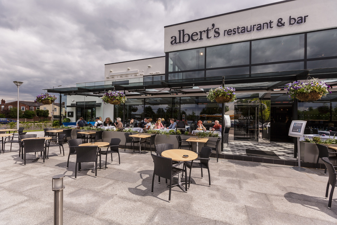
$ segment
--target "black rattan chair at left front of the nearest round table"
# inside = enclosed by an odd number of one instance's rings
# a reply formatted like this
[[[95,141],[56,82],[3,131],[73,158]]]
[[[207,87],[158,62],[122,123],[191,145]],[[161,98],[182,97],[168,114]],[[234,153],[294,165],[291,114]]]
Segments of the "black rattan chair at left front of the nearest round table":
[[[171,189],[172,189],[172,180],[173,176],[185,172],[186,176],[186,167],[185,169],[178,168],[176,166],[172,166],[172,159],[165,158],[159,155],[151,154],[153,163],[154,163],[154,170],[152,176],[152,189],[151,194],[153,194],[153,183],[154,183],[154,176],[157,175],[159,177],[169,179],[170,180],[170,192],[168,194],[168,202],[171,202]],[[184,164],[184,162],[180,163]],[[179,164],[179,165],[180,165]],[[187,192],[187,179],[185,179],[185,190]]]

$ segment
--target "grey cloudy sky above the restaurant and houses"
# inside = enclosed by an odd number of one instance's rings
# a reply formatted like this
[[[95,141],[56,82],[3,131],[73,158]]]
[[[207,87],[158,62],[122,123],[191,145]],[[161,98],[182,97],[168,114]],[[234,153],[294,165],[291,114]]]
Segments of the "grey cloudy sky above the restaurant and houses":
[[[103,80],[104,64],[163,56],[164,26],[277,0],[0,0],[0,98]]]

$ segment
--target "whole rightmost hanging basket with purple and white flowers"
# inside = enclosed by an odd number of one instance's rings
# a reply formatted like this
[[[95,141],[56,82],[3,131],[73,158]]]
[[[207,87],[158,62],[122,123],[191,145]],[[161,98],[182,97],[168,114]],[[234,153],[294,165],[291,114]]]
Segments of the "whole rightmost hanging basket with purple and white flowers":
[[[286,84],[287,94],[290,98],[297,98],[300,101],[309,102],[316,101],[322,96],[326,96],[329,91],[330,86],[325,82],[320,81],[316,78],[307,80],[304,83],[295,81],[290,84]]]

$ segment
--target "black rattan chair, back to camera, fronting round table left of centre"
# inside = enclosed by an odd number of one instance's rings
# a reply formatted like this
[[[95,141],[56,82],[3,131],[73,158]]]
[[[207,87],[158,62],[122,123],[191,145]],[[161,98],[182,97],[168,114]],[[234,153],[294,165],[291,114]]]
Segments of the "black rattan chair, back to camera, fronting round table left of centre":
[[[78,139],[75,139],[78,140]],[[95,177],[97,177],[97,146],[73,147],[76,152],[75,179],[77,177],[77,164],[95,163]],[[80,168],[80,166],[79,166]]]

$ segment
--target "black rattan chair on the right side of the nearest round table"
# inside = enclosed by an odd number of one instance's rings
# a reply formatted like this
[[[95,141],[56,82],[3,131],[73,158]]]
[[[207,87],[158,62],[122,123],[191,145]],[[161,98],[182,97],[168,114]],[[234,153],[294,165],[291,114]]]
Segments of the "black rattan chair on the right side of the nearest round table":
[[[211,175],[210,175],[210,168],[208,165],[208,162],[210,160],[210,155],[212,153],[212,149],[210,147],[202,147],[200,151],[200,156],[197,157],[196,159],[200,160],[200,162],[195,162],[194,160],[186,161],[185,165],[190,169],[190,175],[188,179],[188,187],[191,182],[191,170],[192,168],[201,168],[201,177],[203,177],[203,168],[206,168],[208,170],[208,179],[209,179],[209,184],[211,186]]]

